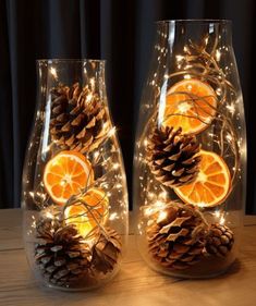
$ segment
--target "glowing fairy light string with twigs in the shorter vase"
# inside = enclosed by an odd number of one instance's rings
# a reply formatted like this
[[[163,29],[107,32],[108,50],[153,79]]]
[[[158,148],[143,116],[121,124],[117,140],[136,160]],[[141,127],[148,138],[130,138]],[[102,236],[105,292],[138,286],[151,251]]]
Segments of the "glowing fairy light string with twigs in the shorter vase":
[[[51,71],[53,77],[57,75],[57,71]],[[54,77],[58,82],[58,78]],[[61,83],[59,83],[59,86],[63,86]],[[77,87],[78,88],[78,87]],[[69,86],[65,87],[65,90],[71,90]],[[95,79],[90,78],[89,84],[84,86],[82,88],[82,91],[80,94],[80,97],[77,99],[77,106],[78,107],[85,107],[84,103],[89,105],[93,100],[99,100],[100,103],[102,103],[102,108],[105,108],[105,111],[108,113],[108,110],[106,108],[105,101],[101,100],[98,96],[98,94],[95,91]],[[83,105],[82,105],[83,103]],[[109,118],[109,115],[108,115]],[[105,228],[102,225],[102,220],[107,217],[109,213],[108,209],[100,209],[103,205],[106,199],[111,196],[111,193],[113,189],[121,191],[123,188],[122,184],[122,175],[118,175],[119,173],[119,160],[118,160],[118,154],[119,149],[115,144],[115,131],[117,128],[114,126],[111,126],[110,122],[102,121],[102,130],[105,133],[100,136],[100,143],[97,146],[97,148],[93,149],[92,151],[86,151],[84,155],[86,158],[90,161],[90,169],[89,173],[87,175],[87,182],[85,184],[85,187],[80,191],[78,194],[72,195],[66,203],[60,208],[57,207],[54,210],[60,210],[60,213],[58,213],[59,219],[62,220],[64,223],[69,222],[69,220],[72,220],[72,223],[84,223],[89,222],[95,225],[92,225],[92,230],[84,236],[85,240],[90,240],[93,237],[96,237],[97,233],[100,231],[106,237],[108,237],[107,231],[105,231]],[[97,139],[96,139],[97,140]],[[110,147],[110,155],[106,156],[105,147]],[[52,155],[52,152],[58,152],[58,145],[54,140],[52,140],[47,147],[44,148],[44,156],[46,155]],[[97,171],[97,179],[89,183],[89,178],[92,176],[92,173],[95,171],[95,169],[100,169],[100,171]],[[112,174],[111,174],[112,173]],[[111,182],[109,181],[109,178],[111,178]],[[102,187],[102,197],[98,197],[95,195],[96,205],[90,205],[84,199],[84,196],[88,195],[90,191],[94,191],[94,188]],[[107,191],[106,191],[107,188]],[[42,209],[47,209],[48,206],[51,205],[51,198],[46,193],[44,183],[40,182],[37,186],[35,186],[33,192],[29,192],[28,196],[33,199],[33,201]],[[94,197],[94,195],[89,195],[89,197]],[[83,210],[77,213],[72,213],[71,216],[68,216],[66,209],[71,206],[83,206]],[[53,218],[53,215],[47,210],[48,215],[51,215]],[[56,213],[56,212],[54,212]],[[48,216],[49,217],[49,216]],[[77,220],[75,220],[77,219]],[[92,221],[90,221],[92,220]],[[97,230],[98,229],[98,230]],[[97,233],[96,233],[97,232]]]

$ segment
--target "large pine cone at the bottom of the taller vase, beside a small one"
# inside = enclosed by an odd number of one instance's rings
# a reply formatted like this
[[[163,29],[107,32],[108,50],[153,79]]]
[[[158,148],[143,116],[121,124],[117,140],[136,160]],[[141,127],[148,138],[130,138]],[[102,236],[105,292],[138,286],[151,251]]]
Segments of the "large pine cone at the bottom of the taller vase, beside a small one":
[[[196,208],[168,204],[148,221],[149,253],[163,267],[186,269],[200,260],[207,225]]]

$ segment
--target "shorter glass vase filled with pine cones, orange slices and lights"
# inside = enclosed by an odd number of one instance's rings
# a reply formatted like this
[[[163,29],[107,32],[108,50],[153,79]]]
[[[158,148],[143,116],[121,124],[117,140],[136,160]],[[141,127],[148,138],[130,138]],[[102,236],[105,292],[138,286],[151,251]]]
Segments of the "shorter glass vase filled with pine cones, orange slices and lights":
[[[37,64],[37,111],[23,173],[26,255],[39,282],[87,290],[115,274],[127,236],[126,181],[105,62]]]

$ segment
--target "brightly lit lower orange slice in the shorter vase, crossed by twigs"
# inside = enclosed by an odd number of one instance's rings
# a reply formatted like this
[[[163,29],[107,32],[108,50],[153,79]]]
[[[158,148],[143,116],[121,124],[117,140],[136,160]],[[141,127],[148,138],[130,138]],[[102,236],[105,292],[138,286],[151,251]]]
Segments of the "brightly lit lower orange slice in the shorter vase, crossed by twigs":
[[[107,221],[109,199],[100,188],[90,188],[81,199],[65,209],[65,222],[75,224],[78,233],[86,236]]]

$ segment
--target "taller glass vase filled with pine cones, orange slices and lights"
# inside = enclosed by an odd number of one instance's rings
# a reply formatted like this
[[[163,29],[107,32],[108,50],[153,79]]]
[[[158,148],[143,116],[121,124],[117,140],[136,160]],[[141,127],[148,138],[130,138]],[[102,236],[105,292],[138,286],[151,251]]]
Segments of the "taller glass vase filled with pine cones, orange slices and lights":
[[[237,255],[245,175],[231,23],[157,23],[134,159],[136,235],[147,264],[184,278],[225,271]]]

